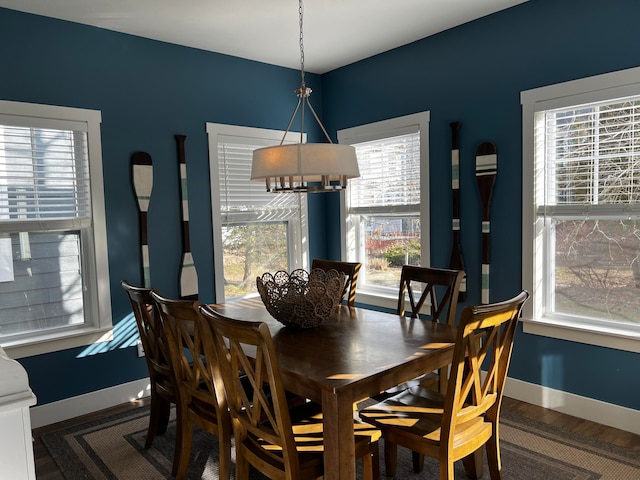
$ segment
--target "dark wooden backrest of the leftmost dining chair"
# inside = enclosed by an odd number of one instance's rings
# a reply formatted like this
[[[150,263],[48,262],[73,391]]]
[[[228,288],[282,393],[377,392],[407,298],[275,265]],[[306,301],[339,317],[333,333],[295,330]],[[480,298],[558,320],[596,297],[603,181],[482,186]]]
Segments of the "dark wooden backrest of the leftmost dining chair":
[[[175,399],[175,380],[169,363],[169,347],[162,332],[156,304],[151,297],[153,289],[136,287],[126,280],[122,280],[120,285],[131,301],[131,309],[149,369],[149,378],[164,397]]]

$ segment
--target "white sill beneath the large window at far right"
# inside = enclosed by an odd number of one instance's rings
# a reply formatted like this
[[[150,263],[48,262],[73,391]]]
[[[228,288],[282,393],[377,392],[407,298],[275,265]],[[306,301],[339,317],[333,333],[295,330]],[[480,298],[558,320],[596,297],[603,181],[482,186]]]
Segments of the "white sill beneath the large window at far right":
[[[524,333],[640,352],[640,325],[585,325],[567,319],[522,319]]]

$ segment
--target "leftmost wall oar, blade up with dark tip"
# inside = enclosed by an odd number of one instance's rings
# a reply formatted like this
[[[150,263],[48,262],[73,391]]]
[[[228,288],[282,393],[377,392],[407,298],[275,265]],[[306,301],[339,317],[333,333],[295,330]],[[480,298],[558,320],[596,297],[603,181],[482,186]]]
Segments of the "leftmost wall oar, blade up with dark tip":
[[[136,152],[131,156],[133,170],[133,190],[138,200],[140,212],[140,248],[142,251],[142,278],[144,286],[151,288],[151,272],[149,269],[149,244],[147,238],[147,212],[153,188],[153,164],[147,152]]]

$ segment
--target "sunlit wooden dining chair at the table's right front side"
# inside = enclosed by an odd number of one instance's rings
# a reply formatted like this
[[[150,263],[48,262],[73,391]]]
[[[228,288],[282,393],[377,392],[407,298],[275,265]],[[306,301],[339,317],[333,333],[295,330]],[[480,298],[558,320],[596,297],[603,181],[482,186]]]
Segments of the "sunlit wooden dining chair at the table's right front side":
[[[491,479],[501,478],[500,406],[518,318],[528,297],[523,290],[509,300],[463,310],[446,394],[415,386],[360,412],[382,430],[387,475],[395,474],[401,445],[438,459],[441,480],[454,478],[453,465],[460,459],[467,475],[475,478],[471,459],[486,445]]]

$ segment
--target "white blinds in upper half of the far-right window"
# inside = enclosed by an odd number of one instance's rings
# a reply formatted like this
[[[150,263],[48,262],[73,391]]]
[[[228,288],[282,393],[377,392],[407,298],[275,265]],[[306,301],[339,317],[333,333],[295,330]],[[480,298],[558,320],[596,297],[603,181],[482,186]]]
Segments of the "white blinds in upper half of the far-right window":
[[[539,130],[537,137],[546,137],[547,208],[620,204],[635,204],[637,208],[640,97],[548,110],[538,115],[543,117],[538,126],[544,131]]]

